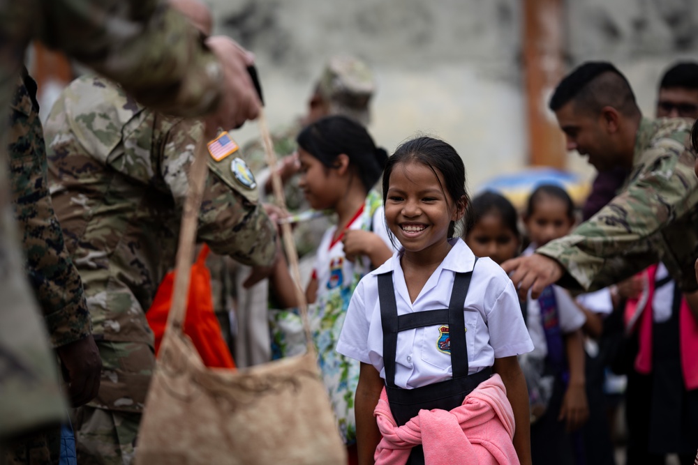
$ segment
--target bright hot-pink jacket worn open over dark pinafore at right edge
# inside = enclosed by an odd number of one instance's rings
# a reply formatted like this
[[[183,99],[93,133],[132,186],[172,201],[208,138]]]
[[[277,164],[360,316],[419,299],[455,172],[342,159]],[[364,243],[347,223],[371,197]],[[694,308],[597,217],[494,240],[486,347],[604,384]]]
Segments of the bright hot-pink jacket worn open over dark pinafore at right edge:
[[[652,372],[652,298],[655,289],[655,273],[657,265],[650,266],[642,273],[647,273],[649,276],[648,296],[646,305],[641,317],[639,318],[638,339],[639,351],[635,358],[635,369],[641,374],[650,374]],[[628,309],[637,306],[637,301],[628,300]],[[681,299],[681,307],[678,310],[678,339],[681,349],[681,371],[683,372],[683,383],[686,390],[694,390],[698,388],[698,321],[691,314],[691,310],[686,303],[685,298]]]

